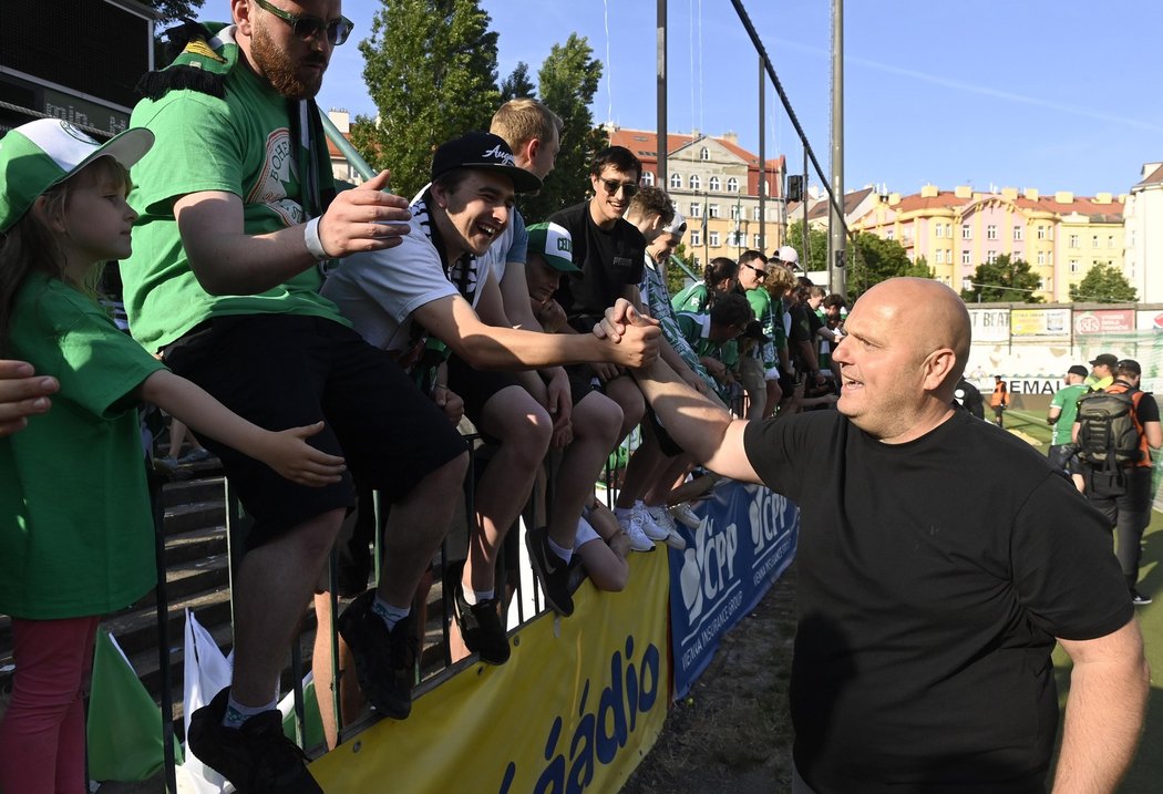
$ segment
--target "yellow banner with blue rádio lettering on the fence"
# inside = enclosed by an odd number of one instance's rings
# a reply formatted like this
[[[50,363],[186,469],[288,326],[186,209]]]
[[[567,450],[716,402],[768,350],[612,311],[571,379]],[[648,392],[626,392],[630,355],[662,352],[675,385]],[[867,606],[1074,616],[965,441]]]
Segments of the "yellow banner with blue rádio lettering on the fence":
[[[499,667],[476,664],[311,765],[329,794],[616,792],[654,746],[670,702],[665,546],[632,555],[630,581],[588,581],[568,618],[512,636]]]

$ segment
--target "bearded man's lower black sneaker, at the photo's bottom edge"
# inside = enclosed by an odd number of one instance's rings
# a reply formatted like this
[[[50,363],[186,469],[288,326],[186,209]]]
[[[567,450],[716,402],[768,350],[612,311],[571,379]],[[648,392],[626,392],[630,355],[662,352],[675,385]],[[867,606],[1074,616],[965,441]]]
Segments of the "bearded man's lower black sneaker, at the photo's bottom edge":
[[[302,750],[283,734],[278,709],[227,728],[222,717],[229,696],[223,689],[190,716],[186,743],[199,760],[234,784],[238,794],[323,794]]]

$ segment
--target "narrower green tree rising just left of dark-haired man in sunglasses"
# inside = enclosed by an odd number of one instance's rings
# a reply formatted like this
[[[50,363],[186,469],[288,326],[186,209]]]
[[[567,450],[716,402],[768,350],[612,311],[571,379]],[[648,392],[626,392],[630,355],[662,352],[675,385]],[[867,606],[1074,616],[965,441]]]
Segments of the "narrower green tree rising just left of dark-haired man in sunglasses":
[[[601,69],[601,62],[593,58],[588,40],[570,34],[564,44],[554,44],[537,72],[541,101],[562,119],[562,150],[541,192],[520,201],[521,213],[529,222],[543,220],[585,199],[590,187],[590,160],[606,145],[590,113]]]

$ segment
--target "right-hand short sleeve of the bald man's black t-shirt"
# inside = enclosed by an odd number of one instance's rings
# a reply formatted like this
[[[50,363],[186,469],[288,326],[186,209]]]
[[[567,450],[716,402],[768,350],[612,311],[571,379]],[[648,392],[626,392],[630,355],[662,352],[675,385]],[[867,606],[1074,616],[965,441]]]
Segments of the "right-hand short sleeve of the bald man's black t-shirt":
[[[1094,639],[1130,620],[1110,527],[1059,472],[1050,472],[1014,516],[1012,544],[1018,598],[1049,635]]]

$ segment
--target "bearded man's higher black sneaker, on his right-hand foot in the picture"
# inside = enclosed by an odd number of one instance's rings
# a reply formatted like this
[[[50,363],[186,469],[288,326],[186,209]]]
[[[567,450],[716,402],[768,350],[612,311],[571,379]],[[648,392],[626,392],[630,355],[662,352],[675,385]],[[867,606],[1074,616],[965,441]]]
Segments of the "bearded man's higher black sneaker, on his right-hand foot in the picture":
[[[372,609],[376,591],[352,601],[340,615],[340,634],[356,658],[359,689],[376,710],[395,720],[412,711],[419,642],[411,613],[391,631]]]

